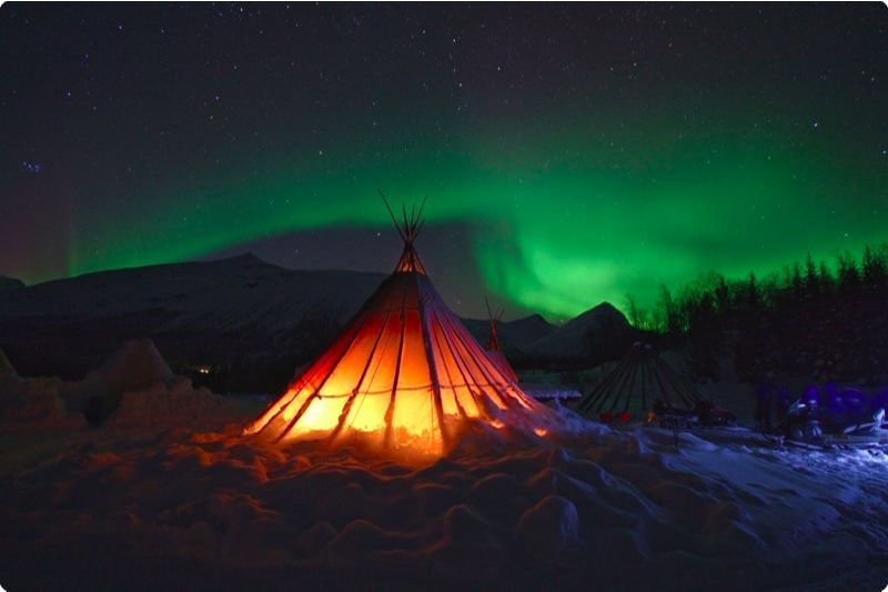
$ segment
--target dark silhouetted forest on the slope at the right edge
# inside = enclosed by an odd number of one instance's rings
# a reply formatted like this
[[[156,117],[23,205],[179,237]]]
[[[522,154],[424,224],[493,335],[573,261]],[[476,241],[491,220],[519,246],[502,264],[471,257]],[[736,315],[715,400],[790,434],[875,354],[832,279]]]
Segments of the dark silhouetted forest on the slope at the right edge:
[[[841,251],[833,265],[804,262],[764,278],[709,272],[676,293],[660,287],[653,309],[627,298],[629,321],[686,342],[693,371],[719,378],[733,354],[740,378],[769,373],[877,384],[888,381],[888,243],[859,259]]]

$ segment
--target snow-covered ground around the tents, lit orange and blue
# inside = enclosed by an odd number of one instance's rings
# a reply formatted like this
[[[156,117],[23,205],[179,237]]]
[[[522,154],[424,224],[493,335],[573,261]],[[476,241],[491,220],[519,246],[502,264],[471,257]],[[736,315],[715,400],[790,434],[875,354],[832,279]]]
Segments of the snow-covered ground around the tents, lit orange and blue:
[[[888,456],[756,434],[478,441],[423,468],[238,438],[261,410],[189,384],[100,428],[71,385],[0,379],[0,584],[19,589],[881,590]],[[23,402],[31,401],[28,407]],[[14,403],[13,403],[14,402]],[[28,412],[13,412],[27,409]]]

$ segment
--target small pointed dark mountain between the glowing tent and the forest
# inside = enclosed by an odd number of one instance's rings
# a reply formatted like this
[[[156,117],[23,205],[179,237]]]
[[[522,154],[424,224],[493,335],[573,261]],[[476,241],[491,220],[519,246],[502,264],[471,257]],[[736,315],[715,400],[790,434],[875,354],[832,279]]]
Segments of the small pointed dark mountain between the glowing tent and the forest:
[[[551,360],[599,362],[625,354],[637,335],[622,312],[603,302],[538,339],[525,353]]]

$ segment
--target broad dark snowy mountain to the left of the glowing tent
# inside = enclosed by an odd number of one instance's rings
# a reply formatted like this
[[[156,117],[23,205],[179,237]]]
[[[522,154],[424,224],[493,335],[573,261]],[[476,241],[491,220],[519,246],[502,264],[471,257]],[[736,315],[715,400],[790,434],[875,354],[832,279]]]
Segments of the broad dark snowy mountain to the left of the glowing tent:
[[[216,389],[275,390],[382,279],[252,254],[90,273],[0,292],[0,348],[21,374],[79,379],[127,340],[151,338],[174,370],[200,369]]]

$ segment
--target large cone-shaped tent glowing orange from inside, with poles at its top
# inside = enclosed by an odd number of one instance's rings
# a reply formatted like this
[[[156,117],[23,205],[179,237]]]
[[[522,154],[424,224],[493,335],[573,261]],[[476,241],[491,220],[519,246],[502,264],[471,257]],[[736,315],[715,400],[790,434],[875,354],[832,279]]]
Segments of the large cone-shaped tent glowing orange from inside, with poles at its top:
[[[392,213],[404,241],[394,272],[246,434],[434,456],[470,424],[533,438],[551,429],[551,411],[487,358],[428,280],[414,249],[422,208],[402,215]]]

